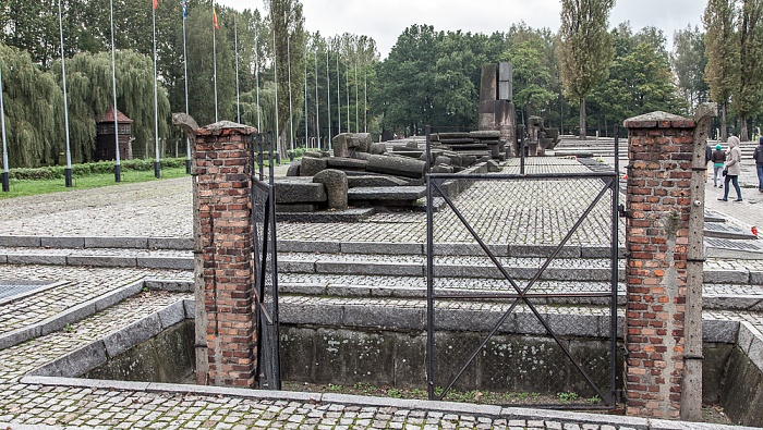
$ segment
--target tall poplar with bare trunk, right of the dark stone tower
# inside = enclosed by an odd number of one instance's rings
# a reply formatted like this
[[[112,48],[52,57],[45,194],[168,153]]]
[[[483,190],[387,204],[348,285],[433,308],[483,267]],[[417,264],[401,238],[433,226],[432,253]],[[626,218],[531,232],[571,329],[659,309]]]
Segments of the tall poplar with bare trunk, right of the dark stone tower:
[[[608,74],[615,54],[607,30],[615,0],[561,0],[556,51],[567,98],[580,102],[580,138],[585,140],[585,99]]]

